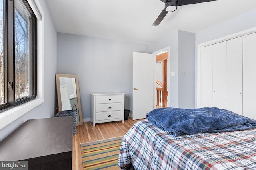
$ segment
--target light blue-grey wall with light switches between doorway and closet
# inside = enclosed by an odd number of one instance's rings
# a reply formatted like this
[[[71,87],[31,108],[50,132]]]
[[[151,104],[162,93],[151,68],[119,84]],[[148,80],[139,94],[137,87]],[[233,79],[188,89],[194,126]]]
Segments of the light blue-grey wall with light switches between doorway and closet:
[[[194,108],[195,34],[180,30],[166,34],[150,44],[150,53],[166,47],[170,47],[170,72],[175,72],[168,77],[170,107]]]

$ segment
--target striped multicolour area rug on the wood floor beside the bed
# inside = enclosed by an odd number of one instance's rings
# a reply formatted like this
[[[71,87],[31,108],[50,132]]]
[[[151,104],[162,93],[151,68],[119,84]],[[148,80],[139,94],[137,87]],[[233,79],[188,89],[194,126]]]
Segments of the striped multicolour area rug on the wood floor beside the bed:
[[[122,137],[81,144],[84,170],[120,170],[118,155]]]

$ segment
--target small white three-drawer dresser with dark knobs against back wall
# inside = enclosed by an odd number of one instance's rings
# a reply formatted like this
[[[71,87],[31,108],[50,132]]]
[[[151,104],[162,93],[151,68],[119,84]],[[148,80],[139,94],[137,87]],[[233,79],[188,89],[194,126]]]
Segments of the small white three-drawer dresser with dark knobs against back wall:
[[[119,92],[91,93],[91,121],[96,123],[120,121],[124,123],[124,94]]]

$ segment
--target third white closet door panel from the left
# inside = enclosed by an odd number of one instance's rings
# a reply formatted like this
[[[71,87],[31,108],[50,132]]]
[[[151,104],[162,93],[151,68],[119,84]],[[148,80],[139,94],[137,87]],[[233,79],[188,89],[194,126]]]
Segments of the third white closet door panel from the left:
[[[226,109],[242,115],[243,37],[227,41]]]

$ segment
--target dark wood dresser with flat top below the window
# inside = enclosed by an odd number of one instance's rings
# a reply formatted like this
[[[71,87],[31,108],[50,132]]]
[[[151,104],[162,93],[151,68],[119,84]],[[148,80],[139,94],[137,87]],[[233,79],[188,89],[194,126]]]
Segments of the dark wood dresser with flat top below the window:
[[[29,170],[71,170],[72,127],[72,117],[28,120],[0,142],[0,160],[27,160]]]

